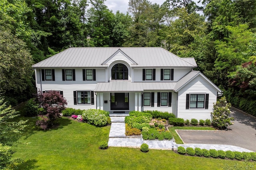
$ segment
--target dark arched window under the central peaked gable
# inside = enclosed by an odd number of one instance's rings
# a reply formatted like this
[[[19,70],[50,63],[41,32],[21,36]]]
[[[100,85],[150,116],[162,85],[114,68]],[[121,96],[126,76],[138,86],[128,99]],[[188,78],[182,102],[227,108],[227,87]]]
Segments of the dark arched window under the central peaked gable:
[[[126,65],[118,63],[111,69],[112,80],[128,80],[128,68]]]

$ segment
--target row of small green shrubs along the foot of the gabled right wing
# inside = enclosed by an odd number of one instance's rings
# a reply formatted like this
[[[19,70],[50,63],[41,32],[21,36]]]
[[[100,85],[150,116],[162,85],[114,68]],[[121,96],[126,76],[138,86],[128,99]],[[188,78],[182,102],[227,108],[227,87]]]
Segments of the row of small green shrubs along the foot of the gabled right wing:
[[[176,118],[176,117],[170,117],[169,118],[169,123],[171,125],[174,125],[174,126],[184,126],[185,125],[189,125],[190,123],[192,125],[198,125],[198,120],[197,119],[191,119],[191,121],[189,121],[188,119],[185,121],[184,119],[182,118]],[[200,119],[199,120],[199,125],[207,125],[207,126],[210,126],[211,125],[211,120],[210,119],[206,119],[205,121]]]

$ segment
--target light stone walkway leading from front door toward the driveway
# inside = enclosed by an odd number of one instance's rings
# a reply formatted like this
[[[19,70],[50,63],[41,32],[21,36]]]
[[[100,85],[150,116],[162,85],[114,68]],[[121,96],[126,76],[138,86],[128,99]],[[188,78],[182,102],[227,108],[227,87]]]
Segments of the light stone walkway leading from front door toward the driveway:
[[[109,133],[108,146],[109,147],[133,147],[140,148],[142,143],[148,144],[149,149],[162,150],[177,150],[179,146],[184,148],[201,148],[201,149],[216,149],[216,150],[231,150],[239,152],[253,152],[248,149],[236,147],[232,145],[213,145],[213,144],[176,144],[174,141],[158,141],[158,140],[143,140],[142,136],[129,137],[125,135],[124,119],[128,114],[110,114],[111,128]]]

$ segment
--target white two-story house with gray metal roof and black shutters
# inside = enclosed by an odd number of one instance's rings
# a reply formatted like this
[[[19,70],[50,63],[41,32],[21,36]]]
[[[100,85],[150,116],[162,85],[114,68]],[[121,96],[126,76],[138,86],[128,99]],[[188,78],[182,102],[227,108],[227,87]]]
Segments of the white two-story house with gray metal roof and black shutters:
[[[38,91],[59,91],[67,107],[158,110],[183,119],[211,119],[222,91],[194,58],[161,47],[69,48],[32,66]]]

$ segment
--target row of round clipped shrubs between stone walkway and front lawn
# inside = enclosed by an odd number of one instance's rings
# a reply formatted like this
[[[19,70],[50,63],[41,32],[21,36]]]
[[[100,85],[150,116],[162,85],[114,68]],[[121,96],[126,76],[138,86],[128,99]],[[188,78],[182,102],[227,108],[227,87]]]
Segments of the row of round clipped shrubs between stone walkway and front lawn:
[[[212,158],[228,158],[228,159],[236,159],[236,160],[253,160],[256,161],[256,152],[238,152],[238,151],[230,151],[226,152],[223,150],[215,150],[215,149],[200,149],[200,148],[190,148],[185,149],[184,147],[178,147],[177,152],[179,154],[188,154],[191,156],[204,156],[204,157],[212,157]]]

